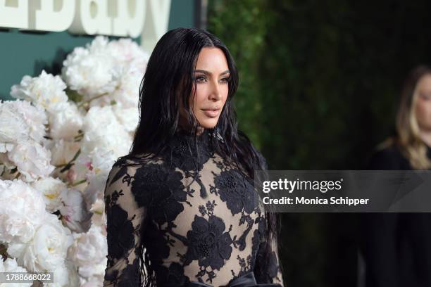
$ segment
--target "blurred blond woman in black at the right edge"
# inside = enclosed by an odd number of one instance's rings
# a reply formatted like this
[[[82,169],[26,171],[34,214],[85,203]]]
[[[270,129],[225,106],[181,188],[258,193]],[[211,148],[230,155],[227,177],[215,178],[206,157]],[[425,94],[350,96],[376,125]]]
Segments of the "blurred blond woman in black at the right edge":
[[[375,153],[370,170],[430,170],[431,69],[419,66],[401,92],[396,136]],[[431,215],[364,215],[366,286],[431,286]]]

